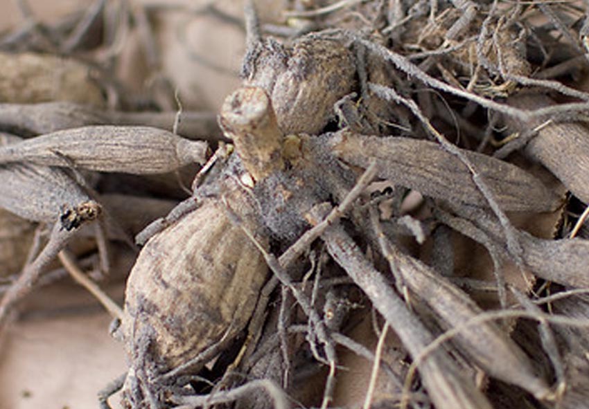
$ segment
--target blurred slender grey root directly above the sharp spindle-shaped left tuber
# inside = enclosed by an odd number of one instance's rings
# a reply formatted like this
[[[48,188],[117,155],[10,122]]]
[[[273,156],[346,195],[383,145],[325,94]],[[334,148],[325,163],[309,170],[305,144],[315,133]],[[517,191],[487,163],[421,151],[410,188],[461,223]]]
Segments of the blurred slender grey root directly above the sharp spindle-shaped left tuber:
[[[107,111],[73,102],[0,104],[0,128],[34,135],[87,125],[143,125],[173,131],[176,116],[176,112]],[[217,115],[182,111],[177,133],[188,138],[219,138]]]

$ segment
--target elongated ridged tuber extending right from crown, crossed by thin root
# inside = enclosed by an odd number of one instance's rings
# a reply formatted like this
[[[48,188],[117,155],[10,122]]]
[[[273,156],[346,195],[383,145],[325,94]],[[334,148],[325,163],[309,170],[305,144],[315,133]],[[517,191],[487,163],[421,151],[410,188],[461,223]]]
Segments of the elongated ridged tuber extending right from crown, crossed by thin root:
[[[380,177],[427,196],[489,206],[466,166],[436,143],[361,136],[346,131],[335,134],[328,143],[337,157],[352,165],[367,167],[369,158],[376,158]],[[524,170],[475,152],[464,151],[464,154],[488,181],[502,209],[542,212],[559,206],[559,198]],[[455,189],[450,191],[448,186]]]

